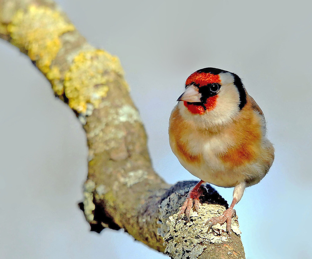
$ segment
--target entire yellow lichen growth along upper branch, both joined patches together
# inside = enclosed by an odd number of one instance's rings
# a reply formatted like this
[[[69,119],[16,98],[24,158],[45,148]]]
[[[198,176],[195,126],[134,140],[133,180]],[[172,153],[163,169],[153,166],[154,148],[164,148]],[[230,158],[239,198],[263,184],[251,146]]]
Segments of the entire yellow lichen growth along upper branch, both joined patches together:
[[[6,29],[12,37],[11,43],[36,61],[54,92],[57,95],[65,92],[69,106],[83,116],[88,115],[88,107],[98,108],[107,95],[108,83],[114,80],[114,74],[123,74],[117,57],[94,49],[76,54],[70,59],[72,64],[67,71],[61,71],[56,65],[51,67],[62,47],[60,36],[75,30],[60,12],[51,8],[30,5],[26,10],[17,11],[6,28],[2,26],[0,29],[1,32]]]

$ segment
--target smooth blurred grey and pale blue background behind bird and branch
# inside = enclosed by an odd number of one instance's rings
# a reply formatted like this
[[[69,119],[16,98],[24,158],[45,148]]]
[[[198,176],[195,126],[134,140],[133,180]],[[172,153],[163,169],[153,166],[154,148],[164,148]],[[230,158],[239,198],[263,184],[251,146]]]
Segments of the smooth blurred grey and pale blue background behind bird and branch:
[[[57,0],[93,46],[117,55],[169,183],[196,178],[172,154],[168,118],[193,71],[238,74],[265,113],[275,162],[236,211],[247,259],[312,258],[309,1]],[[90,233],[77,203],[85,135],[27,56],[0,41],[1,258],[166,258],[123,231]],[[232,201],[233,189],[217,188]]]

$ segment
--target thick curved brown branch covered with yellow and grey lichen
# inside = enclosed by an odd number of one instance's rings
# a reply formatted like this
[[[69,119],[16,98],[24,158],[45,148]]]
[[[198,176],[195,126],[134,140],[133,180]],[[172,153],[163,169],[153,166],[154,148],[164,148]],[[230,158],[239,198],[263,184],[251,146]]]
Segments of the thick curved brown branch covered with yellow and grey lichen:
[[[244,258],[235,219],[231,237],[220,225],[206,233],[207,218],[227,207],[209,185],[191,222],[177,220],[196,183],[170,186],[154,172],[117,57],[90,46],[50,0],[0,0],[0,37],[29,56],[85,129],[89,172],[80,208],[91,230],[124,228],[172,258]]]

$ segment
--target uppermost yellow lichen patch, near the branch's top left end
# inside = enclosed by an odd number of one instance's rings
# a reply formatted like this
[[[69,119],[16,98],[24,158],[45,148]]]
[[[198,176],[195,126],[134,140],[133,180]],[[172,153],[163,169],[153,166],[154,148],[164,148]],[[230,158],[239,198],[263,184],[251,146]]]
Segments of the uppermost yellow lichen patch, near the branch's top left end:
[[[26,11],[17,11],[7,30],[12,37],[11,43],[26,50],[31,60],[36,61],[37,67],[46,74],[62,47],[59,37],[74,31],[75,27],[56,10],[30,5]]]

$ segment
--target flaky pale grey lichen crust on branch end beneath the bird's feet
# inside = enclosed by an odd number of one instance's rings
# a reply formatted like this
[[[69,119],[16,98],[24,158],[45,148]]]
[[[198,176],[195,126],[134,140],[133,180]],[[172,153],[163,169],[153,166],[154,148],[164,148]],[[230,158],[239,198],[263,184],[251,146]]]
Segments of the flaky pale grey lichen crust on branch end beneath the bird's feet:
[[[230,236],[225,232],[226,224],[217,224],[207,233],[206,221],[214,216],[219,216],[225,207],[218,204],[201,204],[198,214],[191,212],[190,222],[186,218],[177,219],[178,213],[172,214],[173,208],[180,207],[181,196],[186,190],[179,190],[160,204],[160,227],[158,235],[163,237],[165,253],[172,258],[193,259],[197,258],[209,243],[225,243]],[[171,214],[170,214],[171,213]],[[232,219],[233,232],[240,234],[236,219]]]

